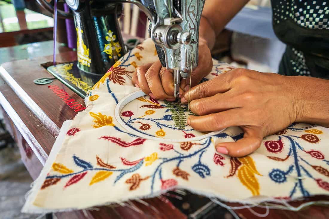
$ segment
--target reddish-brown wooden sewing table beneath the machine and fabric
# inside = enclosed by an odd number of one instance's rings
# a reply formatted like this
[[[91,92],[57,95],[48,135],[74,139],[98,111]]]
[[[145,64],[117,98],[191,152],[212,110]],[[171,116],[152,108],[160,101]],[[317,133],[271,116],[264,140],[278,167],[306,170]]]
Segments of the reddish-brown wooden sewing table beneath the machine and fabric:
[[[0,104],[4,112],[4,117],[8,129],[14,137],[22,155],[22,160],[29,173],[36,179],[42,169],[42,164],[46,161],[52,148],[60,127],[67,119],[72,119],[76,112],[69,108],[60,98],[48,89],[49,85],[62,87],[72,98],[81,104],[83,99],[55,80],[48,85],[36,85],[33,80],[41,77],[52,77],[41,63],[52,61],[52,56],[40,57],[51,54],[51,42],[48,42],[49,49],[39,50],[39,53],[27,54],[25,60],[20,49],[24,46],[14,48],[0,48],[0,54],[8,54],[7,61],[0,68]],[[29,47],[31,45],[27,45]],[[46,46],[46,44],[44,45]],[[26,47],[26,46],[25,46]],[[42,45],[40,45],[42,47]],[[36,47],[39,48],[39,47]],[[59,46],[57,51],[61,53],[57,56],[58,62],[76,60],[76,52],[63,46]],[[326,199],[327,197],[316,197],[313,199]],[[57,213],[58,218],[187,218],[177,208],[172,208],[170,203],[166,203],[159,198],[147,199],[145,202],[157,208],[157,211],[139,202],[133,202],[143,214],[130,207],[99,207],[98,210],[73,211]],[[295,203],[292,205],[298,205]],[[230,204],[237,206],[237,204]],[[262,208],[253,208],[254,211],[264,213]],[[258,218],[248,209],[236,211],[240,218]],[[325,207],[308,207],[300,212],[289,212],[283,210],[270,210],[268,218],[329,218],[329,209]]]

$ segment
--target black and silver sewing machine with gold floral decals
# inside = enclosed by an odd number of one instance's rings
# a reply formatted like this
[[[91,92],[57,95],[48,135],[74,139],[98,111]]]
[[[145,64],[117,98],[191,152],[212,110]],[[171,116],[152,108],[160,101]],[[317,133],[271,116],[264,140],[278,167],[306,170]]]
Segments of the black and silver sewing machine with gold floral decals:
[[[38,2],[48,11],[54,12],[46,0]],[[127,51],[117,22],[122,12],[122,2],[136,4],[149,19],[149,34],[156,45],[159,59],[164,67],[174,74],[174,95],[179,96],[181,78],[187,79],[191,69],[198,63],[198,29],[204,5],[202,0],[66,0],[72,11],[77,32],[77,68],[67,65],[48,67],[55,77],[85,96],[88,86],[81,89],[65,79],[64,71],[72,70],[89,86]],[[72,16],[58,10],[59,17]],[[63,67],[63,68],[62,68]],[[66,68],[66,69],[65,69]],[[71,69],[67,69],[71,68]],[[86,88],[87,87],[87,88]]]

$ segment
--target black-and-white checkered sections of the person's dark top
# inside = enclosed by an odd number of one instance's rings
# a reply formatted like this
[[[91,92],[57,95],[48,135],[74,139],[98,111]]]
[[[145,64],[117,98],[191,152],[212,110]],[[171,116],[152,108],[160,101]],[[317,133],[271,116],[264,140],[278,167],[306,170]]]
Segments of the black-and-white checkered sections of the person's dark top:
[[[308,29],[329,30],[329,1],[272,0],[273,26],[290,19]],[[304,54],[292,48],[291,65],[299,75],[310,76]]]

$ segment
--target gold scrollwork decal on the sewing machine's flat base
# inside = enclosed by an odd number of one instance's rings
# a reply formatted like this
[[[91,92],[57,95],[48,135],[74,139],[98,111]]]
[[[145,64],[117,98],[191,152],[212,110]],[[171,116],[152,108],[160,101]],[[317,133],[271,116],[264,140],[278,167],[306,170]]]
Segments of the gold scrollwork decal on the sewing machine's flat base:
[[[59,65],[54,67],[54,70],[57,74],[62,76],[65,80],[68,80],[73,85],[79,87],[79,89],[85,91],[88,93],[89,90],[91,90],[91,86],[89,86],[86,82],[81,81],[81,78],[74,77],[73,74],[70,73],[70,70],[72,70],[73,63],[66,63],[63,65]]]

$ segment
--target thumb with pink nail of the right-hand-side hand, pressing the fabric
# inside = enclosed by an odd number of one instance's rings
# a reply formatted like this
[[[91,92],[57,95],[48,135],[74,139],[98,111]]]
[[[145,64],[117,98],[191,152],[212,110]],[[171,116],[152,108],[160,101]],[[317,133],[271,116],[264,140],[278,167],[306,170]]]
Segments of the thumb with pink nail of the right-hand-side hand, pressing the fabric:
[[[231,157],[243,157],[257,150],[263,140],[259,131],[246,131],[243,138],[236,142],[224,142],[216,145],[216,151]]]

